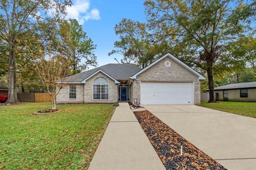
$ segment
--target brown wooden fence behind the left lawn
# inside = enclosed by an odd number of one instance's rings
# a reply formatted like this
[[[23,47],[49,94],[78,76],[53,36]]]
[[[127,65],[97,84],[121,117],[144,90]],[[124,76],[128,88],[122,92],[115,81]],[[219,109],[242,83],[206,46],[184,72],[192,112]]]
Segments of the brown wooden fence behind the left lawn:
[[[51,102],[50,94],[18,93],[17,98],[20,102]]]

